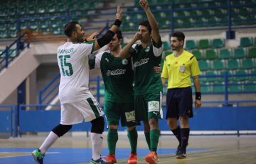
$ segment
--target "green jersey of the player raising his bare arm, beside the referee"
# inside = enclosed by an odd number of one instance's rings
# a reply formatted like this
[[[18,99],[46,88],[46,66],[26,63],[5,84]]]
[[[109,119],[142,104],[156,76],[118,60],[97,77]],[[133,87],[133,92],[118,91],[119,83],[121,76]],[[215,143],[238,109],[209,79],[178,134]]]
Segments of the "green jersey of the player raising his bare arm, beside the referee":
[[[161,75],[154,71],[154,66],[161,63],[163,52],[162,42],[143,48],[140,44],[134,44],[130,49],[134,69],[134,94],[159,93],[163,90]]]

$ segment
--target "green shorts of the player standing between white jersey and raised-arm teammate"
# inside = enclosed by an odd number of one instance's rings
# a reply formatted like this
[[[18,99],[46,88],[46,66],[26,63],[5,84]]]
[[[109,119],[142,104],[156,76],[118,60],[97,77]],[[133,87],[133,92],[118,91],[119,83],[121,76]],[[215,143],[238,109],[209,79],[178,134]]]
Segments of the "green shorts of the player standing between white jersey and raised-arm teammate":
[[[135,119],[134,102],[104,102],[104,112],[108,125],[118,125],[121,118],[122,127],[140,125]]]

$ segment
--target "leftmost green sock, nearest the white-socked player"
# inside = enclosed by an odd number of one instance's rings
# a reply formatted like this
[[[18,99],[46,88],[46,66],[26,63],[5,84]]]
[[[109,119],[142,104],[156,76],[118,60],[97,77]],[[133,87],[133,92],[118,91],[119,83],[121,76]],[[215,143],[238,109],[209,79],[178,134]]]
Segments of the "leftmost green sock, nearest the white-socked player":
[[[118,140],[117,129],[109,129],[107,133],[107,147],[111,154],[115,154],[117,140]]]

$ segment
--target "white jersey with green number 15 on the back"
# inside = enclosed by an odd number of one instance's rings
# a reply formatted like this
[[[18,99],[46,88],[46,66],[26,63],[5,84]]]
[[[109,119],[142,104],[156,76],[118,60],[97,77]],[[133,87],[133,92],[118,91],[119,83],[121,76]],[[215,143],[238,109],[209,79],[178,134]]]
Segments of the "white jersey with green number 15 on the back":
[[[57,59],[60,69],[59,98],[61,103],[78,102],[90,97],[89,55],[94,42],[65,42],[58,47]]]

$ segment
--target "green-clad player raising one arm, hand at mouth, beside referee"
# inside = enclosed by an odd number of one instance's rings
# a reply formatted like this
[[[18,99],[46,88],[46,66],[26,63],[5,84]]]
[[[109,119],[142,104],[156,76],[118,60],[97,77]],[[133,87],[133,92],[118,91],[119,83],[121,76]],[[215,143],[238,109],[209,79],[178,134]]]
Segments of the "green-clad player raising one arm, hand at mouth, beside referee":
[[[137,120],[144,122],[144,133],[149,146],[147,163],[159,160],[156,150],[159,143],[159,118],[162,118],[161,94],[163,86],[161,77],[154,71],[159,66],[163,51],[159,28],[146,0],[139,1],[148,21],[139,23],[138,32],[122,49],[120,57],[132,57],[134,69],[134,107]],[[136,43],[139,40],[139,43]]]

